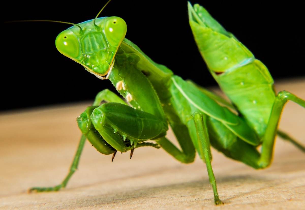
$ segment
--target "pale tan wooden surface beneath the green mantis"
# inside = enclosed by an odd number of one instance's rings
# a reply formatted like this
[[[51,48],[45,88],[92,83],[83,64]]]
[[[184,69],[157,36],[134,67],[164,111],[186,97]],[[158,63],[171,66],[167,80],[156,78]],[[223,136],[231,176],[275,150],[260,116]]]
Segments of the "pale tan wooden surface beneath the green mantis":
[[[305,78],[276,82],[278,91],[305,99]],[[88,105],[0,115],[0,209],[304,209],[305,154],[279,138],[273,164],[263,170],[212,151],[220,207],[198,157],[186,165],[162,149],[139,148],[131,160],[128,152],[111,162],[88,142],[66,189],[28,194],[66,176],[80,137],[75,119]],[[305,144],[304,125],[305,109],[288,102],[279,127]]]

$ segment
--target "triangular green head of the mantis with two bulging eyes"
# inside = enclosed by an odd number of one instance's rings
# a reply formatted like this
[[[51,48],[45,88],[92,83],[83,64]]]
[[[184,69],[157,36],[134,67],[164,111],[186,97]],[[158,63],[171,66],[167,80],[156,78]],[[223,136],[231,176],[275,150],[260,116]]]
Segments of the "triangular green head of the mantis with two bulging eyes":
[[[114,56],[127,31],[120,17],[104,17],[74,25],[55,41],[63,55],[80,63],[87,71],[104,78],[113,66]]]

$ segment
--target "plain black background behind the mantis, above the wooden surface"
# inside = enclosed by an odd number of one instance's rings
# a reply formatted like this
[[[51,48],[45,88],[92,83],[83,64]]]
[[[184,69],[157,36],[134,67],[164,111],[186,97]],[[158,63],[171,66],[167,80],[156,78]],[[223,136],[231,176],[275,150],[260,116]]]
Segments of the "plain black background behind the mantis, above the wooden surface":
[[[173,3],[172,3],[173,2]],[[209,87],[216,85],[203,62],[188,25],[187,1],[112,0],[100,14],[120,16],[127,23],[126,38],[157,63],[184,79]],[[304,76],[303,7],[293,2],[266,5],[266,1],[191,1],[203,5],[232,32],[275,80]],[[95,18],[106,1],[6,2],[4,21],[60,20],[80,23]],[[80,64],[60,54],[57,34],[70,27],[49,22],[2,25],[0,110],[39,107],[93,100],[102,89],[115,89]],[[302,42],[301,42],[302,40]]]

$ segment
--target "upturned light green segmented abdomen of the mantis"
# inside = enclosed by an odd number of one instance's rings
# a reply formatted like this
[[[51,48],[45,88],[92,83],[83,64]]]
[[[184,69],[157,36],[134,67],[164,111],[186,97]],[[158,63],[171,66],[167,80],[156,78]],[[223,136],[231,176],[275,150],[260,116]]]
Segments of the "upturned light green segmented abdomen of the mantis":
[[[199,51],[222,91],[238,112],[264,135],[275,99],[273,79],[267,67],[199,5],[190,25]]]

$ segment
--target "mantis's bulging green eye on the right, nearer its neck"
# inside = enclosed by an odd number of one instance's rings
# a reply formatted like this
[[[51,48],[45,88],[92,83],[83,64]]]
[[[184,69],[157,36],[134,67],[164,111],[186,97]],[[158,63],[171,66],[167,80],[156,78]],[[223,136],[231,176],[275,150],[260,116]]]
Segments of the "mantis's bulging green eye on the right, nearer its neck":
[[[125,20],[120,17],[108,17],[104,31],[108,43],[111,46],[118,46],[126,35],[127,25]]]

